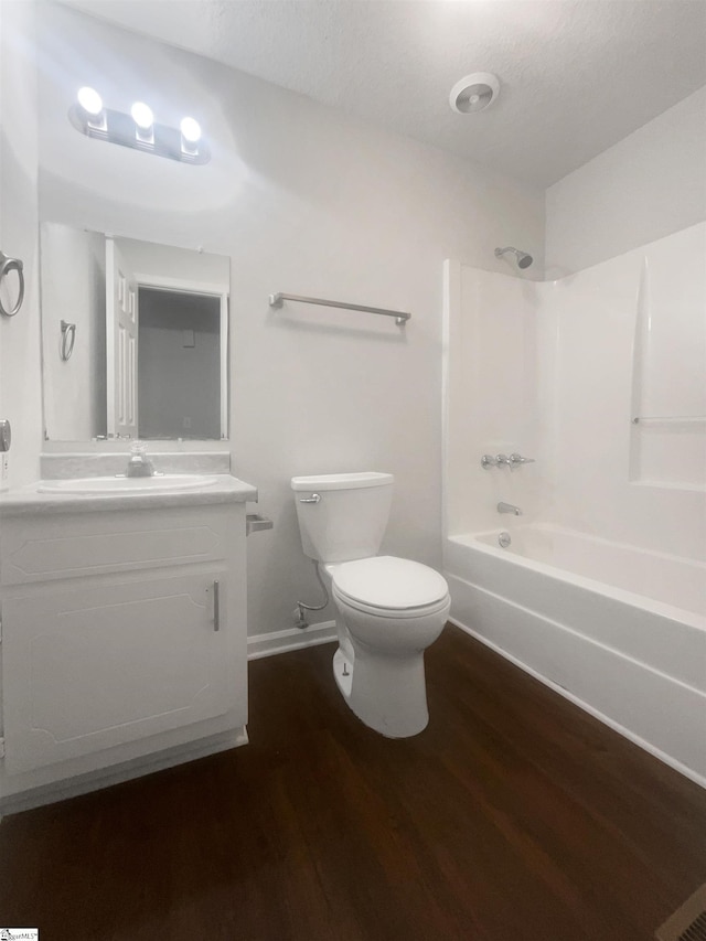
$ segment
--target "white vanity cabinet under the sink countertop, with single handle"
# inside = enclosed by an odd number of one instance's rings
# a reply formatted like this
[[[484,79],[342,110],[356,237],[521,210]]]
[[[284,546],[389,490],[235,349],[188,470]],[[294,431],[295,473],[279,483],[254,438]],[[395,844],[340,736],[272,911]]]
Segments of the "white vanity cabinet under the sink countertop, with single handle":
[[[245,534],[244,502],[0,515],[3,801],[247,740]]]

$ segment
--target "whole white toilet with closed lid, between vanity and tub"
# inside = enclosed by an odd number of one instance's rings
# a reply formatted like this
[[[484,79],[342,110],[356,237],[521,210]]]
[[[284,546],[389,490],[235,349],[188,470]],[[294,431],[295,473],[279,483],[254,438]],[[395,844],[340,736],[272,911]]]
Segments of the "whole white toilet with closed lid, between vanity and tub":
[[[451,601],[426,565],[378,556],[395,480],[388,473],[295,477],[304,553],[335,600],[333,675],[365,725],[406,738],[429,721],[424,652],[441,633]]]

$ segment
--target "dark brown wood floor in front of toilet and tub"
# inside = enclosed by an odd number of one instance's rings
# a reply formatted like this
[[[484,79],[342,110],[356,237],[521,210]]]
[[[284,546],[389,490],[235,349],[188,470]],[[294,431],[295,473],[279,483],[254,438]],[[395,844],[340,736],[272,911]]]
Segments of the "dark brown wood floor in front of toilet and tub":
[[[252,744],[0,826],[41,941],[633,941],[706,881],[706,791],[447,628],[391,741],[331,645],[250,665]]]

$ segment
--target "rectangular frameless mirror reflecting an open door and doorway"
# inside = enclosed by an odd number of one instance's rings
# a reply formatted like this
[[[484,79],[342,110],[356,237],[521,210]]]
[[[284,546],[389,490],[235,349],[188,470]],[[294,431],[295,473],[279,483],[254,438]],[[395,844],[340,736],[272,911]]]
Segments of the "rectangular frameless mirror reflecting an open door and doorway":
[[[44,437],[227,438],[229,259],[41,225]]]

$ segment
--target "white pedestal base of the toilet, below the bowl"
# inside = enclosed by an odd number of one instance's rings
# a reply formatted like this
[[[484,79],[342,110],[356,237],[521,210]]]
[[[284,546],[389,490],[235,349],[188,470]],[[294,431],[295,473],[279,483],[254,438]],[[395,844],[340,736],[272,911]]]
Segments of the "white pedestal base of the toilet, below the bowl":
[[[387,738],[409,738],[429,723],[424,653],[408,657],[371,654],[354,643],[354,663],[339,648],[333,675],[351,710]]]

